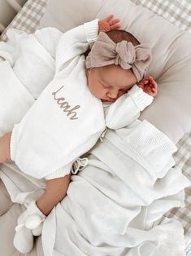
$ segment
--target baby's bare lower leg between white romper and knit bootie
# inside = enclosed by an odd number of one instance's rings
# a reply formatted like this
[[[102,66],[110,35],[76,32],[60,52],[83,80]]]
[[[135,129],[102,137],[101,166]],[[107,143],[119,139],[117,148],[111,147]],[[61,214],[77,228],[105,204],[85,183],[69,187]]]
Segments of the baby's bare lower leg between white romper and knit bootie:
[[[66,196],[70,177],[71,174],[67,174],[62,178],[46,180],[46,192],[37,200],[37,207],[43,214],[50,214],[54,206]]]

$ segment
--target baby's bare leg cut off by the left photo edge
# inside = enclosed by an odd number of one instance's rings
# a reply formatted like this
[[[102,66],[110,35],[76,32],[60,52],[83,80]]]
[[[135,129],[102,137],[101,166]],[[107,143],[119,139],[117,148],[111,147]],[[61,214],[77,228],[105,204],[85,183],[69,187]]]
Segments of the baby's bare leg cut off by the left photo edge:
[[[10,159],[10,141],[11,132],[0,138],[0,164],[3,164]]]

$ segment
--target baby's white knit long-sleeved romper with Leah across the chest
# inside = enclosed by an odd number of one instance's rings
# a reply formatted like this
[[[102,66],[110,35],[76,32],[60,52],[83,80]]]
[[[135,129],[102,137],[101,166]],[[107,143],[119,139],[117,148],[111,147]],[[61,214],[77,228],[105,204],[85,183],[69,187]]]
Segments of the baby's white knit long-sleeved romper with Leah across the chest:
[[[97,37],[98,20],[93,20],[59,39],[54,79],[12,131],[11,159],[24,173],[37,179],[69,174],[106,126],[127,126],[152,102],[153,97],[134,86],[111,104],[105,119],[102,101],[88,88],[83,55]]]

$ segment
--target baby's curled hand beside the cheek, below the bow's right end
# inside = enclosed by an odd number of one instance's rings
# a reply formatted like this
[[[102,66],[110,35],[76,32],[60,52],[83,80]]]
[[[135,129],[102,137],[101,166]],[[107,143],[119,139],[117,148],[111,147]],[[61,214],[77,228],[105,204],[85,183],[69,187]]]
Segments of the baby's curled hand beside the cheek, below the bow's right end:
[[[157,83],[151,76],[141,80],[138,86],[150,96],[155,97],[157,95]]]

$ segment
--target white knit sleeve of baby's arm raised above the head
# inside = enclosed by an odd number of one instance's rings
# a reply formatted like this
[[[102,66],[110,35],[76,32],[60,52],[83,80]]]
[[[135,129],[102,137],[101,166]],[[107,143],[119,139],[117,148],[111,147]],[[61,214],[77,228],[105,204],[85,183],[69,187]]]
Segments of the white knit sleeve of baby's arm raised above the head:
[[[59,40],[56,50],[56,72],[77,56],[84,54],[98,38],[98,19],[68,30]]]

